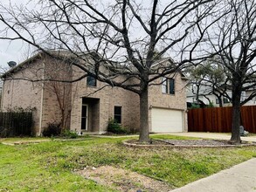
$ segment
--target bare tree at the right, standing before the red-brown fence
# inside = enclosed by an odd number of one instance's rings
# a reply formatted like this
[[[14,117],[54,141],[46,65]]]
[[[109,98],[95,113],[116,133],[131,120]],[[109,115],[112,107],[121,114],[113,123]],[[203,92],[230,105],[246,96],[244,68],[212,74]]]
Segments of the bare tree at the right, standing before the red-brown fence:
[[[209,42],[215,51],[221,50],[218,65],[224,65],[226,84],[232,91],[229,96],[232,101],[231,141],[239,143],[240,106],[256,96],[256,92],[252,92],[241,101],[241,93],[256,86],[256,3],[246,0],[224,3],[231,11],[215,25],[215,33],[209,34]]]

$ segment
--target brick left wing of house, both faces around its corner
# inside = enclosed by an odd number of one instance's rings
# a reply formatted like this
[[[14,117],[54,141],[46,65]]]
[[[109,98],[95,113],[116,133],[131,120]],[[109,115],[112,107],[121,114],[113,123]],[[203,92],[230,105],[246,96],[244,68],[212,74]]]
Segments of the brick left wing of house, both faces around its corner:
[[[53,84],[59,85],[57,91],[61,95],[60,102],[64,102],[67,106],[66,112],[70,110],[71,91],[68,90],[71,89],[71,84],[43,81],[43,79],[50,79],[51,75],[59,77],[60,80],[62,77],[70,79],[72,71],[66,71],[66,65],[59,61],[54,62],[51,58],[38,56],[31,60],[31,63],[26,63],[22,68],[13,72],[3,82],[2,110],[6,111],[15,107],[34,108],[35,134],[41,134],[48,123],[59,123],[61,120],[57,94],[52,90]],[[63,99],[64,89],[66,92]]]

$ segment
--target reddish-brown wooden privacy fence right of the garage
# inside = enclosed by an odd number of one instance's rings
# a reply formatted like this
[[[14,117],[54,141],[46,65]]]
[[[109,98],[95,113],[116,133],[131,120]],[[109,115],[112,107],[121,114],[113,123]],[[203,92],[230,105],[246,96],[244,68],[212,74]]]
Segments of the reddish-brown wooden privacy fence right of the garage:
[[[256,134],[256,106],[241,107],[241,125]],[[188,127],[189,132],[229,133],[232,131],[232,106],[190,109]]]

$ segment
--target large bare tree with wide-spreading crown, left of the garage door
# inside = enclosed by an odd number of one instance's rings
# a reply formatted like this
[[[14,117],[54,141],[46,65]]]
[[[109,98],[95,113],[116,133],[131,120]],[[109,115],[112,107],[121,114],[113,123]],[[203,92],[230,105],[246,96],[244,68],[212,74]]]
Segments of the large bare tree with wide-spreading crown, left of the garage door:
[[[0,37],[22,39],[49,55],[50,49],[70,51],[76,60],[73,65],[84,72],[73,81],[90,75],[137,93],[140,141],[149,141],[149,86],[206,58],[201,50],[204,35],[222,17],[216,4],[213,0],[49,0],[38,1],[39,9],[29,10],[1,3],[0,22],[6,28]],[[15,35],[10,37],[9,32]],[[174,58],[173,64],[154,65],[166,52]]]

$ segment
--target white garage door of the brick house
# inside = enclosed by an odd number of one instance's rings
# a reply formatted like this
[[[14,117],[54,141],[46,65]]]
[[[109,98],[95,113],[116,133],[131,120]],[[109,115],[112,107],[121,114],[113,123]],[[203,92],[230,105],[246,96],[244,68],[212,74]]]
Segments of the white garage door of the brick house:
[[[183,112],[152,108],[152,132],[183,132]]]

